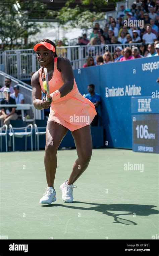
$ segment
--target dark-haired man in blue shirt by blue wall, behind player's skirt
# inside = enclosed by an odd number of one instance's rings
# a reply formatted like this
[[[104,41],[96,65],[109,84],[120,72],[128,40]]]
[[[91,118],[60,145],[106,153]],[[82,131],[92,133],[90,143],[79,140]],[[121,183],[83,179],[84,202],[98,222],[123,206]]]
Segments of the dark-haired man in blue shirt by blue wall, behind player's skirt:
[[[85,98],[89,99],[90,101],[93,102],[96,108],[97,115],[93,119],[91,126],[98,126],[98,112],[99,112],[99,105],[101,102],[101,97],[98,93],[95,93],[94,91],[95,86],[93,84],[89,85],[87,90],[89,91],[88,94],[85,95]]]

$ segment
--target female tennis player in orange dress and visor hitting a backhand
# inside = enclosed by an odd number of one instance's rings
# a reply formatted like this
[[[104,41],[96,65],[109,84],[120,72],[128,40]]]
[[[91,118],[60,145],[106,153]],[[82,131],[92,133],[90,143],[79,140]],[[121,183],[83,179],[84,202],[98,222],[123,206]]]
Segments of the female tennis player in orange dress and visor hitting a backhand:
[[[70,177],[60,186],[62,199],[67,203],[73,201],[73,183],[87,169],[92,155],[92,136],[90,123],[97,115],[94,104],[78,91],[72,66],[65,57],[57,57],[56,46],[44,39],[34,46],[41,68],[32,76],[33,104],[36,109],[47,109],[50,102],[45,96],[41,99],[43,89],[43,67],[47,68],[51,106],[46,127],[45,170],[48,187],[40,203],[51,204],[56,201],[54,180],[57,167],[57,150],[69,129],[74,138],[77,156]],[[45,91],[44,91],[45,92]]]

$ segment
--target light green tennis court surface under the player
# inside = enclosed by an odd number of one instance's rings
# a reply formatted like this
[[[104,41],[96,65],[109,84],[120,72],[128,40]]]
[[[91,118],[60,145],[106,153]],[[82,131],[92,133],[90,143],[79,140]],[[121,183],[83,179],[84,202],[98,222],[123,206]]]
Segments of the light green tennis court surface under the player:
[[[69,177],[75,150],[57,153],[57,201],[39,200],[47,187],[44,151],[1,153],[0,235],[8,239],[152,239],[158,234],[158,155],[94,149],[75,182],[74,202],[59,186]],[[124,164],[143,164],[124,170]],[[144,169],[143,169],[144,167]]]

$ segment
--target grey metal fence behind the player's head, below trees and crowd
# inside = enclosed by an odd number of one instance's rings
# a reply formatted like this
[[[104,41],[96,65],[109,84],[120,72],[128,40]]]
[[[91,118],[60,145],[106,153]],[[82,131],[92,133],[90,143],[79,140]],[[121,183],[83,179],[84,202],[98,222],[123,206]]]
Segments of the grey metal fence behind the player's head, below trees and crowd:
[[[120,46],[127,47],[132,45],[140,45],[141,43],[131,43],[131,44],[120,44]],[[83,64],[86,62],[89,56],[103,55],[106,50],[113,53],[115,47],[118,44],[107,44],[106,45],[76,45],[76,46],[62,46],[58,47],[60,49],[65,49],[64,57],[67,57],[71,64],[72,68],[82,68]],[[5,73],[14,76],[17,79],[31,79],[31,72],[35,72],[40,68],[39,63],[36,59],[36,53],[32,49],[27,50],[10,50],[0,53],[5,59]],[[58,55],[61,57],[61,55]],[[3,63],[0,63],[3,64]],[[25,84],[24,86],[27,86]]]

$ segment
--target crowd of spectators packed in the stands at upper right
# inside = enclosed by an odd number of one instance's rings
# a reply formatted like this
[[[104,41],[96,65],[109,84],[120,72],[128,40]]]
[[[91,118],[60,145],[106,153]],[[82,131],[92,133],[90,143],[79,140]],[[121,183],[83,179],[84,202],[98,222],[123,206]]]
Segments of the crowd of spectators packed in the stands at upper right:
[[[130,43],[134,45],[123,46]],[[137,45],[137,43],[141,44]],[[118,46],[112,45],[110,53],[105,46],[111,44]],[[90,38],[83,34],[83,37],[78,37],[76,45],[88,45],[85,56],[89,58],[83,67],[158,56],[159,0],[156,2],[136,0],[131,9],[124,9],[124,5],[121,5],[117,20],[109,15],[104,28],[101,28],[99,23],[95,23]],[[96,45],[100,45],[98,50]]]

